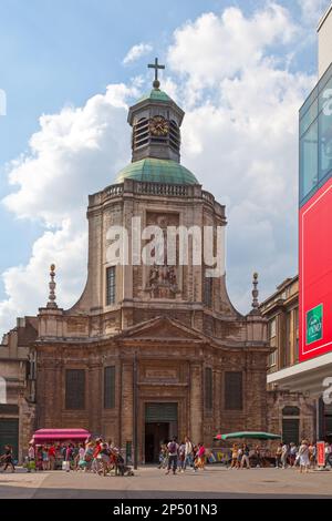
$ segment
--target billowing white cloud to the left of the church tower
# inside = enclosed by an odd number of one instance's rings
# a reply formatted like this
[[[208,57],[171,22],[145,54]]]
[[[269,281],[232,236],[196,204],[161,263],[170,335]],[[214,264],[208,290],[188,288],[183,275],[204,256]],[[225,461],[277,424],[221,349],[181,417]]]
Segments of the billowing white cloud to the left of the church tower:
[[[8,298],[0,303],[0,329],[18,315],[35,314],[48,302],[48,270],[55,263],[58,300],[74,304],[86,276],[87,195],[112,184],[129,161],[126,98],[138,95],[124,84],[110,85],[104,95],[83,108],[65,108],[44,115],[30,140],[30,152],[9,166],[13,192],[3,200],[18,218],[40,221],[44,234],[34,243],[27,266],[2,274]]]

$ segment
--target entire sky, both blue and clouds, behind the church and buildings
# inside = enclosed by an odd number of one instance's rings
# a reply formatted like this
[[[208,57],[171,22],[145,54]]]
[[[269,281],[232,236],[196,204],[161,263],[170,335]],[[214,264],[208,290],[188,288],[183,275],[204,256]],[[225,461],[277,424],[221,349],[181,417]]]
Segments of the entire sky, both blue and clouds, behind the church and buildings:
[[[87,195],[129,162],[127,109],[166,64],[183,159],[227,205],[227,279],[250,309],[294,276],[298,111],[330,0],[0,0],[0,334],[86,279]],[[1,112],[1,111],[0,111]]]

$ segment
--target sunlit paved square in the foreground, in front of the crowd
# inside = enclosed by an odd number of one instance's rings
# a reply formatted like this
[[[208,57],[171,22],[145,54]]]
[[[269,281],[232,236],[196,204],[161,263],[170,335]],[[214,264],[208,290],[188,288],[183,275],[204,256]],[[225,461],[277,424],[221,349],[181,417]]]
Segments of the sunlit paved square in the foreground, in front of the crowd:
[[[134,477],[84,472],[0,473],[0,499],[331,499],[332,472],[300,474],[293,469],[227,470],[208,467],[165,476],[153,467]]]

